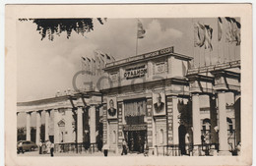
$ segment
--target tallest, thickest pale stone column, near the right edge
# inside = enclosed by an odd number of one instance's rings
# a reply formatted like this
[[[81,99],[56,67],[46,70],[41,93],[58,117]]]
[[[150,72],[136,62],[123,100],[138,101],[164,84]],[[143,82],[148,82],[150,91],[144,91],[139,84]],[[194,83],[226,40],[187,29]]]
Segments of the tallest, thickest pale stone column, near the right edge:
[[[229,155],[227,143],[227,125],[226,125],[226,109],[225,109],[225,93],[218,92],[218,107],[219,107],[219,150],[221,155]]]

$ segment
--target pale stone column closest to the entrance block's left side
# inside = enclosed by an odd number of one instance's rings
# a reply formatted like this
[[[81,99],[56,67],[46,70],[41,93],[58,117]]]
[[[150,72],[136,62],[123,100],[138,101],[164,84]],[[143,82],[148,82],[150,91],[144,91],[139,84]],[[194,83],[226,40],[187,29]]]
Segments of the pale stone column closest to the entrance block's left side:
[[[96,143],[96,106],[93,105],[90,111],[90,140],[91,143]]]

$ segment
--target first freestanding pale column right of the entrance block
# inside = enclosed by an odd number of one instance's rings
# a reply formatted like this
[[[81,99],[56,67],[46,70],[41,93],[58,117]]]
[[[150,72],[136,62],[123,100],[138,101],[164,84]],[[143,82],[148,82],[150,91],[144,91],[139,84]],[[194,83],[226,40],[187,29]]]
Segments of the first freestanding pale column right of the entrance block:
[[[201,144],[199,93],[192,94],[193,143]]]

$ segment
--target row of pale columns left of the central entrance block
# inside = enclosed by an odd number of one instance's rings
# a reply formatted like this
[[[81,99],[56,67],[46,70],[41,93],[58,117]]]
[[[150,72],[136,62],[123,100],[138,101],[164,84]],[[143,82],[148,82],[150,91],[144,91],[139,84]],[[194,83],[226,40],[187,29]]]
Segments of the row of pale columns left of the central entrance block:
[[[66,139],[66,142],[75,142],[75,139],[73,138],[73,122],[74,119],[72,115],[74,113],[77,114],[77,142],[82,143],[83,142],[83,134],[85,131],[83,131],[83,113],[84,109],[82,106],[77,107],[77,110],[75,112],[72,111],[72,108],[64,108],[65,109],[65,131],[67,132],[68,136]],[[89,107],[89,115],[90,115],[90,140],[91,143],[96,143],[96,105],[91,105]],[[45,113],[45,140],[49,139],[49,125],[50,125],[50,114],[54,114],[54,143],[60,143],[60,131],[59,131],[59,125],[58,123],[61,121],[61,113],[59,112],[59,108],[53,108],[53,109],[46,109],[46,110],[36,110],[36,111],[28,111],[26,112],[27,121],[26,121],[26,139],[31,140],[31,127],[32,127],[32,112],[36,113],[36,134],[35,134],[35,143],[38,144],[40,141],[40,127],[41,127],[41,115],[42,112]],[[17,114],[18,115],[18,114]]]

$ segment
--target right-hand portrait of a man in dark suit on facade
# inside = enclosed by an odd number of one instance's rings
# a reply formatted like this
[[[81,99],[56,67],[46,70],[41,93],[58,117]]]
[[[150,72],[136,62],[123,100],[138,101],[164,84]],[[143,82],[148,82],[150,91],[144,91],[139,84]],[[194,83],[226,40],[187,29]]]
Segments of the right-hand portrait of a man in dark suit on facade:
[[[164,98],[165,98],[164,92],[153,93],[153,115],[154,116],[166,115]]]

